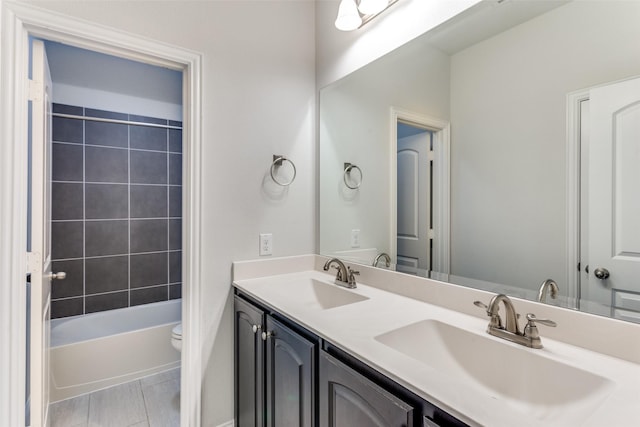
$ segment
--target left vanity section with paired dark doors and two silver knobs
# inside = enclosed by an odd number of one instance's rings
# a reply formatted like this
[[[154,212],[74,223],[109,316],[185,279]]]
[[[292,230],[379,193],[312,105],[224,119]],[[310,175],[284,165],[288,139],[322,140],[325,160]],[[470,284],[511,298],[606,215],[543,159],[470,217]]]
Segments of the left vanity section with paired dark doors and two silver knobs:
[[[235,297],[238,427],[313,427],[317,344]]]

